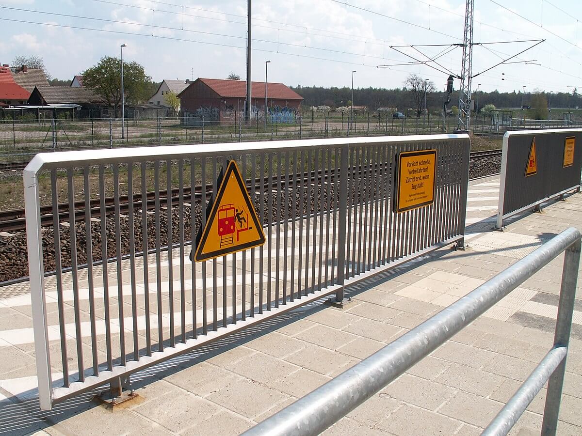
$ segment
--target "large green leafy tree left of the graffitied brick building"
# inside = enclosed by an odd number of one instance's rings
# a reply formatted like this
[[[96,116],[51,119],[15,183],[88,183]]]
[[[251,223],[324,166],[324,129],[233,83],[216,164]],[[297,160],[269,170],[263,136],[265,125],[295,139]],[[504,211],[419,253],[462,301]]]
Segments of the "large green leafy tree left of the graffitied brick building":
[[[83,73],[83,84],[104,99],[113,108],[121,105],[121,60],[112,56],[101,58]],[[139,104],[147,101],[151,88],[151,77],[137,62],[123,62],[123,93],[125,101]]]

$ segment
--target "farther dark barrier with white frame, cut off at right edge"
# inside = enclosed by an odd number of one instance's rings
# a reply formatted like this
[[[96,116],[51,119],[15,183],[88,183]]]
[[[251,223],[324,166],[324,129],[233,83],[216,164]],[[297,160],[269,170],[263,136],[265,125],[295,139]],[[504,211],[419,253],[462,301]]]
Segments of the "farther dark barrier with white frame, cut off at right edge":
[[[580,192],[582,129],[507,131],[503,135],[496,228],[503,220]]]

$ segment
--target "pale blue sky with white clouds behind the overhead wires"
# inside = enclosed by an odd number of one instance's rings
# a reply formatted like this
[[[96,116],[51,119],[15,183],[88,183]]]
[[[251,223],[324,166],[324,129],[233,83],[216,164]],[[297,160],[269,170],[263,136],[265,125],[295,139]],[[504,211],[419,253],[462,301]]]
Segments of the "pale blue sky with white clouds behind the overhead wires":
[[[355,88],[401,88],[414,73],[443,90],[461,73],[462,48],[452,44],[463,43],[465,3],[252,0],[252,80],[265,80],[271,60],[269,81],[287,85],[350,87],[355,70]],[[246,0],[0,0],[0,63],[41,56],[52,77],[71,79],[127,44],[124,60],[154,81],[231,71],[244,80],[246,13]],[[579,0],[475,0],[473,41],[473,90],[582,90]],[[442,56],[415,65],[391,46],[421,60]]]

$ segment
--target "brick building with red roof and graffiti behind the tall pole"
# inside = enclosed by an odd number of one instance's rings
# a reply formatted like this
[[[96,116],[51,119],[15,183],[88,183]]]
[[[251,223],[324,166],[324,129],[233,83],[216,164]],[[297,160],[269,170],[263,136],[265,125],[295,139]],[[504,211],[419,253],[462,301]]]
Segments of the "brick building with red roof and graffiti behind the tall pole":
[[[269,82],[266,88],[269,122],[294,123],[303,97],[282,83]],[[244,80],[197,78],[178,94],[183,120],[190,124],[235,121],[243,115],[246,94],[247,83]],[[251,106],[253,120],[264,120],[265,82],[251,83]]]

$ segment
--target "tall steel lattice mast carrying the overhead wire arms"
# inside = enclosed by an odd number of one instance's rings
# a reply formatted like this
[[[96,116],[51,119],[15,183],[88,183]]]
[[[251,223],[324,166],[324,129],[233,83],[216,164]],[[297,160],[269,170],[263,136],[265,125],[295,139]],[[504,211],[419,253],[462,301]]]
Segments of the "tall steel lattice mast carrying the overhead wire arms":
[[[471,126],[471,76],[473,75],[473,11],[475,0],[467,0],[463,35],[461,87],[459,89],[459,122],[457,130],[469,131]]]

